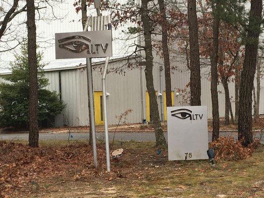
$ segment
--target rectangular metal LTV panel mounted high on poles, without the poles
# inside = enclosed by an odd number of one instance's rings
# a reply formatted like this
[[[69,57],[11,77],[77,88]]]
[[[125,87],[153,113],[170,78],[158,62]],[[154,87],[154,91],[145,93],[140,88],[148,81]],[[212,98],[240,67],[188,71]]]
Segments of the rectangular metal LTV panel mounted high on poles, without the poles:
[[[112,56],[112,31],[84,31],[55,34],[56,59]]]

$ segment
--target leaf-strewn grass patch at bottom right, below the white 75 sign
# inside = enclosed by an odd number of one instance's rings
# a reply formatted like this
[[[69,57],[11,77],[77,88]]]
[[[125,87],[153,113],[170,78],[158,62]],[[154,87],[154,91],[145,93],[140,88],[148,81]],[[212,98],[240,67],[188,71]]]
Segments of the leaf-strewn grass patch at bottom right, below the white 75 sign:
[[[135,181],[133,186],[137,186],[135,183],[141,186],[140,189],[135,189],[137,191],[147,189],[147,192],[140,194],[142,197],[161,195],[183,198],[190,196],[211,198],[217,195],[231,198],[255,195],[262,197],[264,192],[261,189],[264,187],[264,182],[262,186],[257,186],[259,191],[256,193],[252,191],[256,188],[254,184],[262,181],[264,175],[264,162],[260,160],[262,158],[260,153],[264,153],[263,148],[259,148],[258,152],[248,159],[223,161],[215,166],[211,166],[206,160],[170,161],[164,167],[155,169],[155,174],[149,175],[146,183],[139,184]],[[125,185],[126,188],[133,186]]]

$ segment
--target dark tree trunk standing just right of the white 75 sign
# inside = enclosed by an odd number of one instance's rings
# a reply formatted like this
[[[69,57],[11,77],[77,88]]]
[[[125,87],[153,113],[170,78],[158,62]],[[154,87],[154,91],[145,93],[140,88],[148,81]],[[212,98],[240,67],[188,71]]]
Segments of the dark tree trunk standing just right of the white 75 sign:
[[[218,108],[218,93],[217,93],[217,62],[218,62],[218,33],[219,33],[219,2],[216,2],[216,6],[213,8],[213,41],[212,41],[212,53],[211,53],[211,100],[212,100],[212,142],[219,138],[219,108]]]

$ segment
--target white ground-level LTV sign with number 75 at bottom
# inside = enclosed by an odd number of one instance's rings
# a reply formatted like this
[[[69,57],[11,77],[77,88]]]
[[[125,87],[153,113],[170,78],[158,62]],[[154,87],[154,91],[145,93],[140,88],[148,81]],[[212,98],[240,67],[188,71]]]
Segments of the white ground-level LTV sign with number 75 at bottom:
[[[208,159],[207,106],[167,107],[168,160]]]

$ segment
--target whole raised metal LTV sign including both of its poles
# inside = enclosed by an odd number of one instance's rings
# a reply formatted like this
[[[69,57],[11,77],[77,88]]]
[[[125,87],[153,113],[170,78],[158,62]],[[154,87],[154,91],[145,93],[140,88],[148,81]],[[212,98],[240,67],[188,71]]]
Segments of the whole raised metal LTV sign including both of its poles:
[[[100,3],[96,6],[99,6]],[[99,7],[97,13],[100,15]],[[88,26],[91,31],[88,32]],[[106,166],[110,172],[110,151],[108,141],[108,124],[106,111],[106,73],[109,62],[109,56],[112,55],[112,34],[110,16],[87,17],[84,32],[59,33],[55,34],[56,59],[59,58],[81,58],[86,57],[87,80],[89,103],[91,110],[91,128],[93,138],[94,165],[97,167],[96,151],[96,131],[95,131],[95,110],[94,93],[92,89],[92,57],[106,57],[104,74],[102,77],[103,98],[104,98],[104,116],[105,116],[105,135],[106,135]]]

